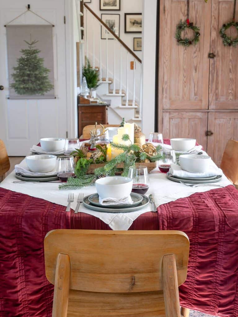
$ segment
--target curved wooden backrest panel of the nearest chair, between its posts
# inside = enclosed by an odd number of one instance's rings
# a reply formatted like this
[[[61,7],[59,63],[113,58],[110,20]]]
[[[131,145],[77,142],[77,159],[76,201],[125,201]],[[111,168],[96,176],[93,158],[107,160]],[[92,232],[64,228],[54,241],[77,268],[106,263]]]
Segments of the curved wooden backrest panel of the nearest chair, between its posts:
[[[53,230],[44,242],[54,284],[58,254],[70,258],[70,289],[130,293],[162,290],[162,258],[174,254],[178,285],[187,276],[189,240],[181,231]]]

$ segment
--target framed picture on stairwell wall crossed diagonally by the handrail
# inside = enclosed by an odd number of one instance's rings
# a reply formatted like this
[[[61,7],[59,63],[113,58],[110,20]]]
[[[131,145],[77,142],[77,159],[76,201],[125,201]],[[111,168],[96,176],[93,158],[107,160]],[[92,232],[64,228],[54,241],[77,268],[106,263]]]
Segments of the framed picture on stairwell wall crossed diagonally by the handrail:
[[[120,37],[120,14],[102,13],[101,19],[112,32]],[[101,39],[106,39],[107,35],[109,40],[112,40],[114,38],[113,35],[106,28],[101,26]]]

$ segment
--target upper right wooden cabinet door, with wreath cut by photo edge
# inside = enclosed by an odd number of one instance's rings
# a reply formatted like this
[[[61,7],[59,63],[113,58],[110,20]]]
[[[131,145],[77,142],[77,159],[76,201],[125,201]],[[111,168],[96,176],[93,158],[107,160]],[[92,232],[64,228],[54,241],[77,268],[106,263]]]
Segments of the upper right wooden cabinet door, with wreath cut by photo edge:
[[[212,25],[210,52],[209,109],[238,109],[238,49],[222,43],[219,31],[233,16],[234,0],[212,0]],[[238,5],[236,5],[236,21]],[[237,37],[234,27],[226,34]]]

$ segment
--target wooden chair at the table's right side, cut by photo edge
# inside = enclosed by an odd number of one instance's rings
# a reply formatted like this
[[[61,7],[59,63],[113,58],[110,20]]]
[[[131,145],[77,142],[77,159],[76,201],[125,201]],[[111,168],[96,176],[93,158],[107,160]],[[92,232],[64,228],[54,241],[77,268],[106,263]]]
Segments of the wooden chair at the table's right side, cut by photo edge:
[[[221,169],[234,185],[238,185],[238,141],[229,140],[221,159]]]

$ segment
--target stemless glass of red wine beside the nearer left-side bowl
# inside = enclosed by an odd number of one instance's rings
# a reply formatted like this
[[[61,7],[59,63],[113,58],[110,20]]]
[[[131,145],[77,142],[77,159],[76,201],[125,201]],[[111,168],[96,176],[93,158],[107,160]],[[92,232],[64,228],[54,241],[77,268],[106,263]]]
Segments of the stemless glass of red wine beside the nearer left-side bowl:
[[[70,177],[76,177],[73,156],[59,156],[57,158],[57,176],[62,182],[67,182]]]

